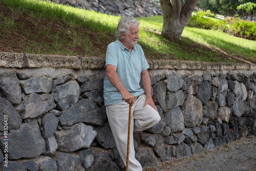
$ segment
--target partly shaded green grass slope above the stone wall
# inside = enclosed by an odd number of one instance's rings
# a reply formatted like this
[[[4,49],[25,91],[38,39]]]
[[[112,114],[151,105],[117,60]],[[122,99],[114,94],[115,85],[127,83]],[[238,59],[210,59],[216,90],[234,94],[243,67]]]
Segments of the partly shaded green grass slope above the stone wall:
[[[102,45],[109,42],[109,35],[114,37],[118,19],[120,18],[119,16],[36,0],[0,0],[0,2],[4,2],[8,8],[18,15],[23,15],[29,11],[30,16],[35,18],[38,23],[46,19],[66,26],[66,29],[59,30],[53,34],[51,23],[41,28],[37,26],[36,22],[33,31],[36,31],[38,35],[31,34],[32,30],[25,30],[24,34],[21,35],[24,39],[31,40],[24,45],[24,53],[87,54],[95,56],[100,53],[100,55],[104,56],[103,52],[94,50],[95,41]],[[141,23],[139,27],[139,44],[142,46],[147,58],[234,62],[232,59],[221,58],[217,53],[218,50],[221,50],[231,56],[238,56],[256,62],[256,41],[233,37],[218,31],[185,27],[181,41],[173,43],[160,35],[163,25],[162,16],[140,17],[137,19]],[[14,19],[5,18],[5,16],[1,15],[1,12],[0,26],[4,29],[0,31],[0,38],[3,34],[13,34],[15,28],[24,28],[22,23],[15,23]],[[87,29],[88,34],[94,34],[93,39],[88,35],[81,34],[77,28]],[[46,41],[36,41],[39,35],[51,37],[53,43],[49,45]],[[191,47],[191,45],[196,46]],[[15,49],[17,42],[13,41],[10,46]],[[69,50],[75,47],[83,48],[84,53],[79,54]],[[211,48],[207,49],[207,47]]]

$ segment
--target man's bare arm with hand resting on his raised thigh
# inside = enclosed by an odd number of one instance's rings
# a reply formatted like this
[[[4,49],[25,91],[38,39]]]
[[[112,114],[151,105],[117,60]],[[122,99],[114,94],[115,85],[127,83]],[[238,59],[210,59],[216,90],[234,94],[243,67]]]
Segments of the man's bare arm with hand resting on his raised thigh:
[[[148,74],[147,70],[144,70],[141,72],[141,80],[142,80],[143,87],[144,87],[145,94],[146,94],[146,101],[143,105],[143,108],[145,108],[145,106],[147,104],[149,104],[157,111],[157,107],[156,107],[156,105],[152,99],[152,96],[151,96],[151,80],[150,80],[150,75]]]

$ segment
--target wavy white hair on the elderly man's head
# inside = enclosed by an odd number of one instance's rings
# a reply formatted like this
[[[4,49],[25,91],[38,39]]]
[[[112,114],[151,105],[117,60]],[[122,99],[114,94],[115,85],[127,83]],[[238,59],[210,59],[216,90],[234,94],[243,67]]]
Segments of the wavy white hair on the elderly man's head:
[[[124,35],[130,32],[131,26],[139,26],[140,21],[138,19],[132,17],[121,17],[119,19],[117,28],[116,28],[116,37],[121,40],[122,39],[122,32]]]

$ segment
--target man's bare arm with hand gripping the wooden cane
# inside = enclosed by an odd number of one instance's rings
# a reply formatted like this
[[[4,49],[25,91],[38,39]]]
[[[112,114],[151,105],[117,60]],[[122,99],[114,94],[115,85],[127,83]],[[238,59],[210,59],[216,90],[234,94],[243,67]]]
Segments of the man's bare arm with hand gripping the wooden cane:
[[[109,78],[113,86],[121,93],[122,98],[128,104],[134,103],[134,96],[126,90],[121,82],[118,74],[116,73],[116,67],[113,65],[106,65],[106,76]]]

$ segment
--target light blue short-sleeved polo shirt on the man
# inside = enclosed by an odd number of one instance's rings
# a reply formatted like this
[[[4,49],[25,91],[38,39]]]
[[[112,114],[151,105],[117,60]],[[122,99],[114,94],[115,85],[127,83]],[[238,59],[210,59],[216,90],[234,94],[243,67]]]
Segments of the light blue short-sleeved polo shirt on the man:
[[[130,53],[121,41],[117,39],[112,42],[106,50],[106,64],[115,66],[124,87],[134,96],[144,93],[140,87],[140,74],[148,69],[148,64],[144,52],[140,45],[136,45]],[[109,78],[104,79],[104,103],[105,105],[115,104],[122,101],[119,91],[113,86]]]

